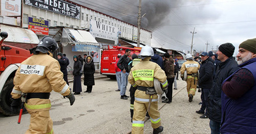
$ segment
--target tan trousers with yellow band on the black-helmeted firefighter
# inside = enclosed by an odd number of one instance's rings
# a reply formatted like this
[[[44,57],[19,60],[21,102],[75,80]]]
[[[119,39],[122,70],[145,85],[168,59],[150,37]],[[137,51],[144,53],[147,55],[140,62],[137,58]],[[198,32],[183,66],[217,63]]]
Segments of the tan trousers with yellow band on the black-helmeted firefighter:
[[[30,114],[30,125],[26,133],[54,133],[49,99],[29,99],[25,107]]]

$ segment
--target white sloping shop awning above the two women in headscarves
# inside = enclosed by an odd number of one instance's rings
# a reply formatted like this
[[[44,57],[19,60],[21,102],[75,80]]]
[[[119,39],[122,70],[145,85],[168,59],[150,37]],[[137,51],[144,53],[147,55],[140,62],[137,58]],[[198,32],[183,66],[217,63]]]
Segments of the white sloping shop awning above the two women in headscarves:
[[[73,52],[99,51],[100,46],[90,32],[83,30],[63,29],[62,46],[72,45]]]

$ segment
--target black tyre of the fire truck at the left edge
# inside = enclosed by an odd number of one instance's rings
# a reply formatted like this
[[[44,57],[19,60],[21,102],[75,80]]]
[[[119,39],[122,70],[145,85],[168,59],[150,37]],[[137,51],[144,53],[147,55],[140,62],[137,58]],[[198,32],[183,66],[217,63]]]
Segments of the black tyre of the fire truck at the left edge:
[[[17,107],[12,111],[12,88],[13,88],[13,78],[6,81],[4,88],[0,94],[0,111],[6,116],[15,116],[19,114],[20,107]],[[23,114],[27,113],[26,108],[23,109]]]

